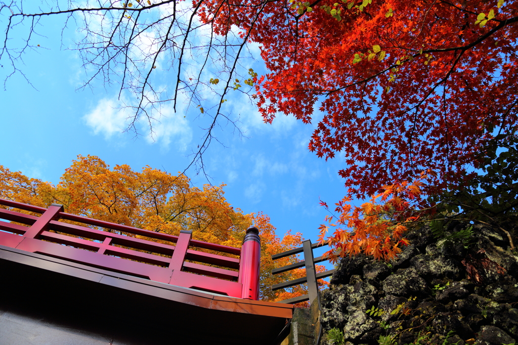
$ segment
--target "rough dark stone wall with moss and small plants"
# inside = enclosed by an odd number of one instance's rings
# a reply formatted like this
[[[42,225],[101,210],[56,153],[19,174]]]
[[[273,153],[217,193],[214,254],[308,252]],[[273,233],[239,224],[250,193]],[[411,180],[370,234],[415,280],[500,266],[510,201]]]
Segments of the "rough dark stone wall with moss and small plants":
[[[466,226],[455,222],[445,232]],[[347,345],[378,345],[381,337],[401,345],[518,340],[518,256],[500,232],[478,225],[473,232],[465,248],[423,226],[407,234],[411,245],[396,261],[344,258],[322,294],[324,333],[338,328]],[[378,315],[367,314],[371,308]],[[324,336],[321,344],[332,341]]]

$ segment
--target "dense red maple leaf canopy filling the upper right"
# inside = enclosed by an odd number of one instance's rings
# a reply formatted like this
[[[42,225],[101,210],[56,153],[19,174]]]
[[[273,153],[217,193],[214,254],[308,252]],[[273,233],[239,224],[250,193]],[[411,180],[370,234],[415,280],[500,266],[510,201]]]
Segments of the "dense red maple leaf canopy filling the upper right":
[[[514,1],[204,1],[202,19],[261,44],[266,122],[319,119],[309,149],[346,159],[365,196],[431,169],[438,189],[466,178],[517,119]],[[469,177],[469,176],[468,176]]]

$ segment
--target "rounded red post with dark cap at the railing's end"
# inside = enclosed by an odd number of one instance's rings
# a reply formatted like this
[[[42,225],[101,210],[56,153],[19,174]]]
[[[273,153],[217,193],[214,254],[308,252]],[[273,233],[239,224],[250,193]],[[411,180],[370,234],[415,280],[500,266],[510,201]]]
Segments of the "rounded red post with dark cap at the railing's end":
[[[242,284],[241,298],[259,299],[259,266],[261,264],[261,239],[259,229],[251,226],[247,229],[241,247],[239,261],[239,280]]]

